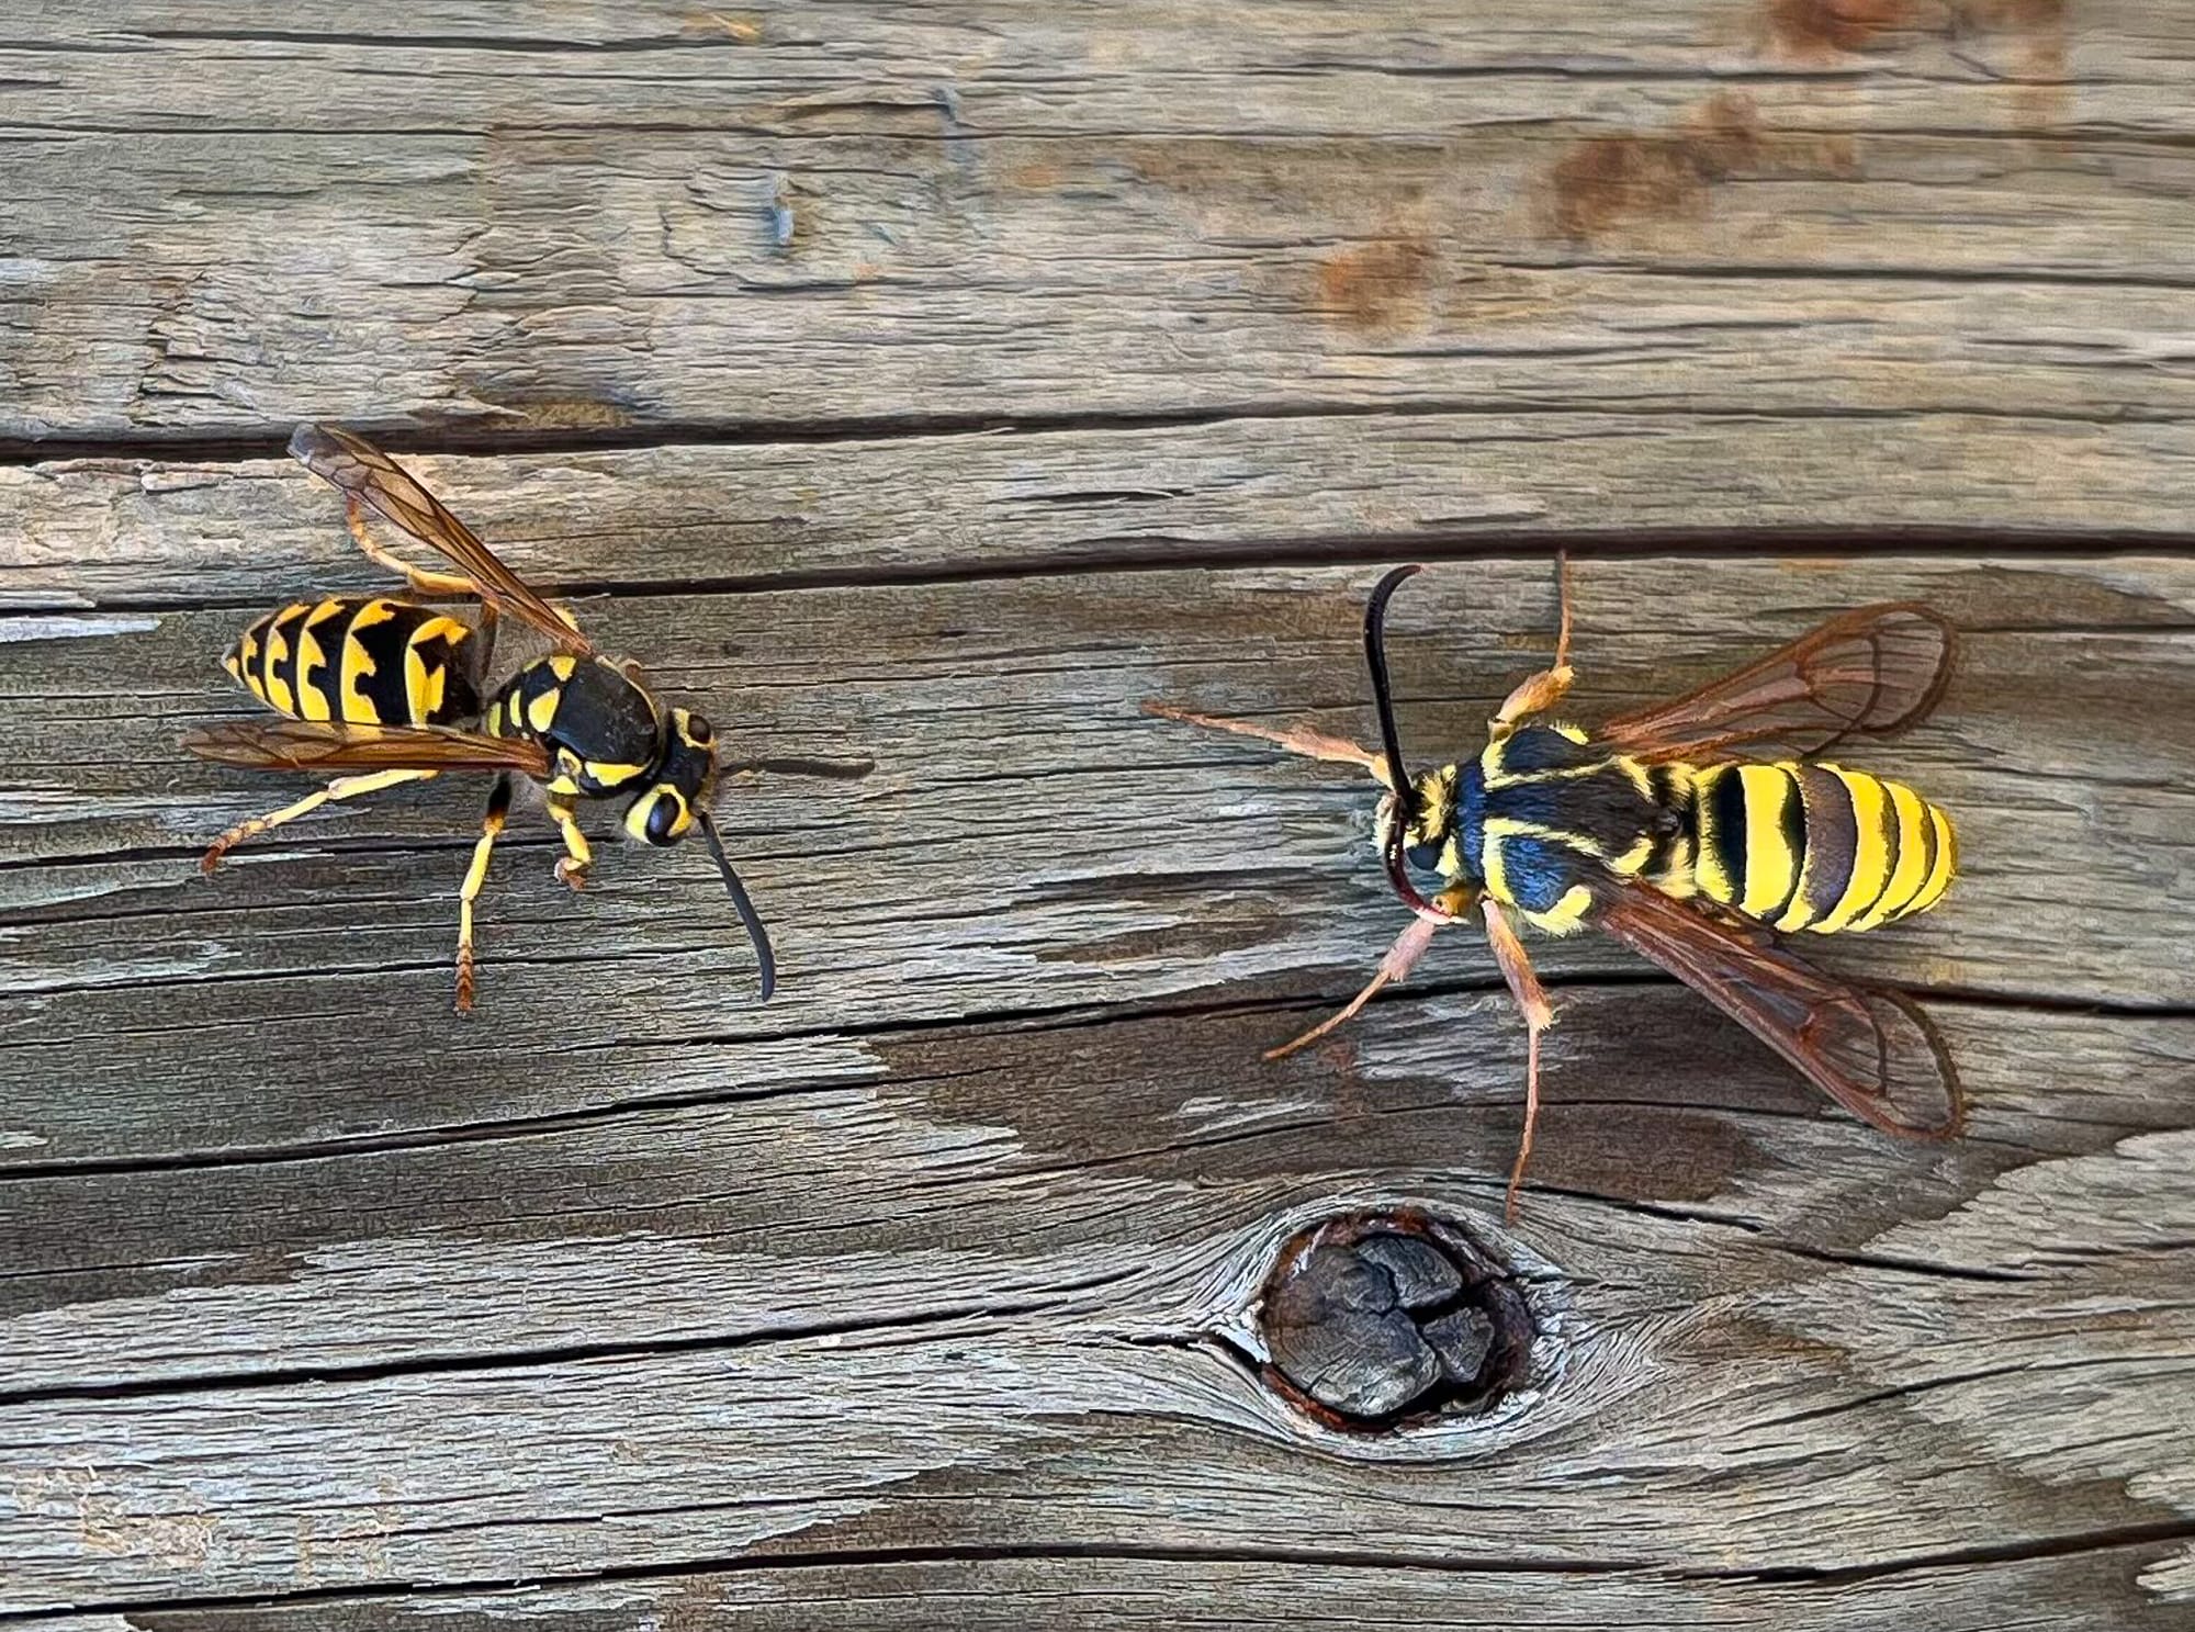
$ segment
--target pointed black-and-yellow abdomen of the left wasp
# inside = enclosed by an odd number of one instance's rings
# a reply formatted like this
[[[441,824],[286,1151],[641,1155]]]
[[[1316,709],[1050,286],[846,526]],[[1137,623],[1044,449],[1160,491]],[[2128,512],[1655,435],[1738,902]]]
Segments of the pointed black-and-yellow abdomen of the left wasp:
[[[481,711],[470,638],[410,601],[299,601],[248,627],[222,667],[292,719],[448,726]]]

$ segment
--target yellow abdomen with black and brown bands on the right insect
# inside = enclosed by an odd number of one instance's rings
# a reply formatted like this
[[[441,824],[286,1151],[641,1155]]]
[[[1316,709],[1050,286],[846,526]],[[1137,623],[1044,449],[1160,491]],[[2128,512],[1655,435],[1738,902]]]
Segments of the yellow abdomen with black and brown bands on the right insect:
[[[1925,913],[1958,871],[1951,818],[1905,783],[1828,763],[1692,772],[1695,884],[1774,930],[1872,930]]]

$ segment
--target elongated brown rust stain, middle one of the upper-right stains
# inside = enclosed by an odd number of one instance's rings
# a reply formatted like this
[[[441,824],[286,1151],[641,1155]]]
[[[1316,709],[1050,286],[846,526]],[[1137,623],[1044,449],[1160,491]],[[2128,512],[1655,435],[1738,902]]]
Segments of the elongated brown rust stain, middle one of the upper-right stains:
[[[1587,136],[1547,173],[1554,233],[1574,243],[1646,222],[1697,222],[1734,175],[1853,175],[1853,140],[1776,132],[1752,97],[1716,92],[1659,132]]]

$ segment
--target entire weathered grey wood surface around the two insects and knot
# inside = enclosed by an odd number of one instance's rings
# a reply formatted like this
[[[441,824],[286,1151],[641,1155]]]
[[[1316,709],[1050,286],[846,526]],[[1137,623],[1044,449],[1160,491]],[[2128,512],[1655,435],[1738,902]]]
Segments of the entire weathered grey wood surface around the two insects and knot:
[[[20,4],[0,29],[0,1621],[2195,1625],[2195,22],[2136,0]],[[753,770],[707,860],[301,787],[257,612],[419,474]],[[1591,937],[1523,1031],[1343,768],[1576,557],[1596,719],[1853,603],[1960,820],[1835,1112]],[[595,818],[606,829],[604,818]],[[1493,1413],[1256,1373],[1280,1244],[1462,1220]]]

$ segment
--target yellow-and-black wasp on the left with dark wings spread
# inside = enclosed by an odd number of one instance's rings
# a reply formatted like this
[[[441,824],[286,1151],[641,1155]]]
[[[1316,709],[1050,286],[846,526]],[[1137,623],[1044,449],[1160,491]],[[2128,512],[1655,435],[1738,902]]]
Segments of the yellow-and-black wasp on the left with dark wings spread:
[[[527,588],[441,500],[362,437],[301,426],[290,452],[342,491],[351,537],[369,559],[402,575],[413,594],[476,599],[479,625],[386,597],[299,601],[252,623],[224,667],[288,717],[211,726],[184,737],[184,746],[224,766],[345,774],[272,816],[230,827],[206,851],[204,871],[213,873],[241,840],[338,798],[446,770],[496,772],[459,891],[457,1007],[465,1011],[474,996],[472,904],[509,818],[511,777],[542,783],[549,816],[564,836],[555,873],[571,888],[586,882],[593,860],[577,801],[630,796],[626,831],[632,838],[676,845],[700,827],[755,945],[762,1000],[768,1000],[777,983],[770,937],[709,814],[718,772],[709,722],[656,698],[630,658],[599,656],[569,614]],[[369,531],[369,511],[435,548],[459,573],[424,573],[384,551]],[[520,667],[489,695],[498,614],[544,634],[553,651]]]

